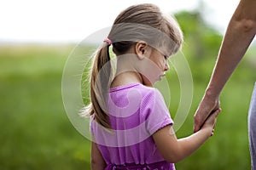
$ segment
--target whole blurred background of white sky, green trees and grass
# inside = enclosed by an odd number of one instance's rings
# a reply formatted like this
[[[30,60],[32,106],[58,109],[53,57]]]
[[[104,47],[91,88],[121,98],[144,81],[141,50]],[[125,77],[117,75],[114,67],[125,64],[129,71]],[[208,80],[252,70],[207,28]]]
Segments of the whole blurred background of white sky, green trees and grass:
[[[0,169],[90,169],[90,140],[76,131],[62,103],[62,71],[79,42],[111,26],[134,3],[155,3],[174,14],[183,30],[194,96],[177,138],[193,132],[195,110],[238,0],[10,0],[0,3]],[[256,80],[255,54],[254,40],[221,94],[223,111],[214,136],[177,169],[250,169],[247,111]],[[173,68],[167,78],[173,84],[169,109],[175,114],[179,87]]]

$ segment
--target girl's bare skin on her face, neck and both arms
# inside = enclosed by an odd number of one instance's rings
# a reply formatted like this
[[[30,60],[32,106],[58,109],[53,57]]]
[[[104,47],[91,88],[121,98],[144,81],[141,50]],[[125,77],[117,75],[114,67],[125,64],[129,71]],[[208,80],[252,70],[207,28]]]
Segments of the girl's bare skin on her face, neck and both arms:
[[[117,76],[113,79],[112,87],[133,82],[153,86],[154,83],[160,81],[160,77],[163,77],[165,72],[169,70],[166,55],[149,47],[145,42],[137,42],[128,53],[135,55],[118,60],[119,67],[117,68]],[[132,56],[136,56],[136,58],[132,58]],[[148,69],[148,67],[150,67],[150,70],[144,71]],[[126,71],[121,71],[124,68]],[[143,71],[145,75],[142,74]],[[160,130],[153,134],[153,139],[161,156],[163,156],[166,161],[173,163],[190,156],[201,144],[212,136],[219,112],[220,110],[217,110],[212,113],[201,130],[187,138],[177,139],[171,125],[160,128]],[[102,154],[98,150],[96,143],[92,142],[91,169],[104,169],[104,166],[106,166],[106,163]]]

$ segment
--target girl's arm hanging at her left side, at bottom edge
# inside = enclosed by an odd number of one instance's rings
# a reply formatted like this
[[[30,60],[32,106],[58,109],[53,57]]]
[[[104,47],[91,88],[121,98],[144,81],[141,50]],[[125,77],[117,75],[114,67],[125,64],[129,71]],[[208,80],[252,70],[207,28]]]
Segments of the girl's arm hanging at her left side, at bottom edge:
[[[90,166],[92,170],[103,170],[106,167],[106,162],[102,157],[102,153],[97,147],[97,144],[91,142],[91,152],[90,152]]]

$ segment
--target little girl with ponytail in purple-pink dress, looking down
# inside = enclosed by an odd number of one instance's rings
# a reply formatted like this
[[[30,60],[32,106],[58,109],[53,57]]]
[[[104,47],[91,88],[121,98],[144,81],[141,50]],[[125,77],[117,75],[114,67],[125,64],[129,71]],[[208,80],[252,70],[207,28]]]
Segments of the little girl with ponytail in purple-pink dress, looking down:
[[[177,139],[160,92],[183,34],[176,20],[153,4],[126,8],[94,56],[90,75],[91,168],[175,169],[213,134],[218,111],[197,133]],[[112,47],[116,62],[110,58]],[[113,69],[113,65],[116,65]]]

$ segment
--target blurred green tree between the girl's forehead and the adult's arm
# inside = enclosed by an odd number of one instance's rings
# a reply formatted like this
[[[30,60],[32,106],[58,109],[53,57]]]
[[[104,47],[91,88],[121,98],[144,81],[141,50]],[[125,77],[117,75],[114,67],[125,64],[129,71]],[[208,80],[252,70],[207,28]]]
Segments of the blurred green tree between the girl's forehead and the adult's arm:
[[[184,35],[184,53],[189,58],[207,59],[216,54],[222,37],[207,26],[199,12],[180,12],[175,15]],[[189,46],[189,48],[187,48]]]

